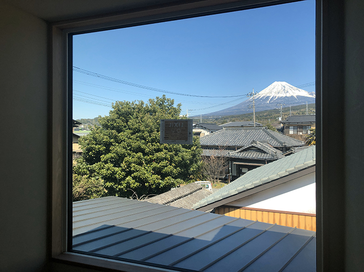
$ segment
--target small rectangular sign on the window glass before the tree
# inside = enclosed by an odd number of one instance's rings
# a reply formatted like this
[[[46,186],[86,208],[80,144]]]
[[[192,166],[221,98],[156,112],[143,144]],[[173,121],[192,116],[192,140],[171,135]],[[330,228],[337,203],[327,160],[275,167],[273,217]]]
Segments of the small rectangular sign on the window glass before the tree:
[[[193,144],[192,119],[162,119],[160,143]]]

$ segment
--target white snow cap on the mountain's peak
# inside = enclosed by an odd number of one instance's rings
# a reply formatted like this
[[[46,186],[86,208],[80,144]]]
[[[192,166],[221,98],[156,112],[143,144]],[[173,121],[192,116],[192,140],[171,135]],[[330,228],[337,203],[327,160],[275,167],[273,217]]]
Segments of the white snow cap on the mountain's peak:
[[[293,96],[297,99],[297,96],[306,96],[315,98],[314,95],[301,90],[297,87],[284,81],[275,81],[270,86],[259,92],[256,99],[268,99],[267,103],[276,100],[278,97],[290,97]]]

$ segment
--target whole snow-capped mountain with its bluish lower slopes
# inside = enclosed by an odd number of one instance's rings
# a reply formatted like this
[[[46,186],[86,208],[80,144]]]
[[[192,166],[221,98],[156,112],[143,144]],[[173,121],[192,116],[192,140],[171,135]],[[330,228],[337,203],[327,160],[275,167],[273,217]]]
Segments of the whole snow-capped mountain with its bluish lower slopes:
[[[315,103],[315,93],[309,93],[297,87],[290,85],[284,81],[275,81],[270,86],[257,93],[254,97],[255,112],[277,109],[277,104],[285,104],[283,107],[298,106],[306,102]],[[253,97],[237,104],[236,106],[213,112],[203,114],[202,116],[225,116],[225,115],[239,115],[244,113],[251,113],[253,109],[248,106],[253,104]]]

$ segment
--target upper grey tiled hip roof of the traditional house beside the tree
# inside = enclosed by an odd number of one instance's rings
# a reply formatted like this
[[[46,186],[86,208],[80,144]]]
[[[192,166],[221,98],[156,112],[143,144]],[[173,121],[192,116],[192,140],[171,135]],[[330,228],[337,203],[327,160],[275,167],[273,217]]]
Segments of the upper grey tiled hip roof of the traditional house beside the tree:
[[[285,136],[266,128],[224,128],[223,130],[208,134],[200,139],[201,146],[236,146],[245,147],[259,141],[269,143],[274,148],[299,147],[302,141]]]

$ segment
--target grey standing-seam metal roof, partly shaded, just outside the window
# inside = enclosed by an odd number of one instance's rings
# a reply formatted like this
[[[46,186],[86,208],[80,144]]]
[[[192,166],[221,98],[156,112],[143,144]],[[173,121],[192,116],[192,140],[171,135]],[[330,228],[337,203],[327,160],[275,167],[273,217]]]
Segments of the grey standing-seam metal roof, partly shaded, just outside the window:
[[[179,271],[316,271],[316,233],[119,197],[73,202],[73,251]]]

